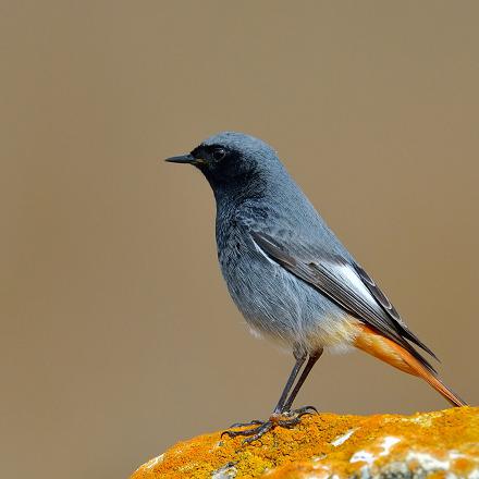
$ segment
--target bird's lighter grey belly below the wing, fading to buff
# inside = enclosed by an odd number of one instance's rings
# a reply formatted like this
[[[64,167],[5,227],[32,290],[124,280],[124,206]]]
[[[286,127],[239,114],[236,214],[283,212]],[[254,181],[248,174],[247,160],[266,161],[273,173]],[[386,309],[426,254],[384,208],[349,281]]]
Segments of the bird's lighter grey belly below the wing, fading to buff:
[[[354,340],[356,319],[269,258],[220,263],[234,303],[260,335],[307,351]]]

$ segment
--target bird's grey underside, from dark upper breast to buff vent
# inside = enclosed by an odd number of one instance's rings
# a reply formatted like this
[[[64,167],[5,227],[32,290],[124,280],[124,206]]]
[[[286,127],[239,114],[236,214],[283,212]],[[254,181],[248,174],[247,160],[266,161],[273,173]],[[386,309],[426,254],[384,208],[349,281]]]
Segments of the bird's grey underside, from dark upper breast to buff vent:
[[[218,259],[231,297],[250,327],[290,344],[345,341],[345,312],[254,243],[241,222],[217,223]]]

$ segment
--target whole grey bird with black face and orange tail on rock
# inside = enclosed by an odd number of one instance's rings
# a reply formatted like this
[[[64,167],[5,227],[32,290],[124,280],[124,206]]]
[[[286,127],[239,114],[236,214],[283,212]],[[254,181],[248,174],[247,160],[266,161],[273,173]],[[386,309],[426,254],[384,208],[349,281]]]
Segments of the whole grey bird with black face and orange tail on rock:
[[[314,406],[293,409],[293,402],[324,348],[361,349],[423,379],[453,406],[467,405],[442,382],[423,354],[438,359],[434,353],[343,246],[270,145],[221,132],[165,161],[193,164],[210,184],[218,260],[230,295],[254,333],[295,359],[271,416],[237,422],[223,434],[249,443],[317,413]]]

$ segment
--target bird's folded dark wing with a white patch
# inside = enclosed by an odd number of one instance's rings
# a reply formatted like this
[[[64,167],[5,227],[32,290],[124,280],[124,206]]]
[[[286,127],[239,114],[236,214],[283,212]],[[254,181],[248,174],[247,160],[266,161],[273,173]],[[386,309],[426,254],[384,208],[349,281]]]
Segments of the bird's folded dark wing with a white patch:
[[[394,306],[361,267],[339,255],[328,255],[310,245],[300,244],[299,241],[294,247],[287,248],[277,235],[273,237],[251,230],[250,234],[256,245],[272,260],[365,324],[406,348],[429,370],[434,371],[408,341],[435,358],[434,354],[409,331]]]

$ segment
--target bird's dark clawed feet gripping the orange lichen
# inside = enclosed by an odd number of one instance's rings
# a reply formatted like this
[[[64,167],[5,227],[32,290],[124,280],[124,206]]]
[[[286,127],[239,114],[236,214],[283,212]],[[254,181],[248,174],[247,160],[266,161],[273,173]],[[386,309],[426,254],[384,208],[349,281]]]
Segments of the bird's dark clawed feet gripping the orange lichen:
[[[237,435],[245,435],[244,444],[250,444],[254,441],[260,439],[263,434],[272,429],[280,427],[291,429],[300,422],[300,418],[307,414],[318,414],[318,410],[314,406],[304,406],[298,409],[285,410],[283,413],[273,413],[271,417],[266,421],[255,419],[249,422],[236,422],[231,428],[242,428],[247,426],[255,426],[249,429],[242,429],[241,431],[226,430],[221,433],[221,437],[228,435],[230,438],[236,438]]]

